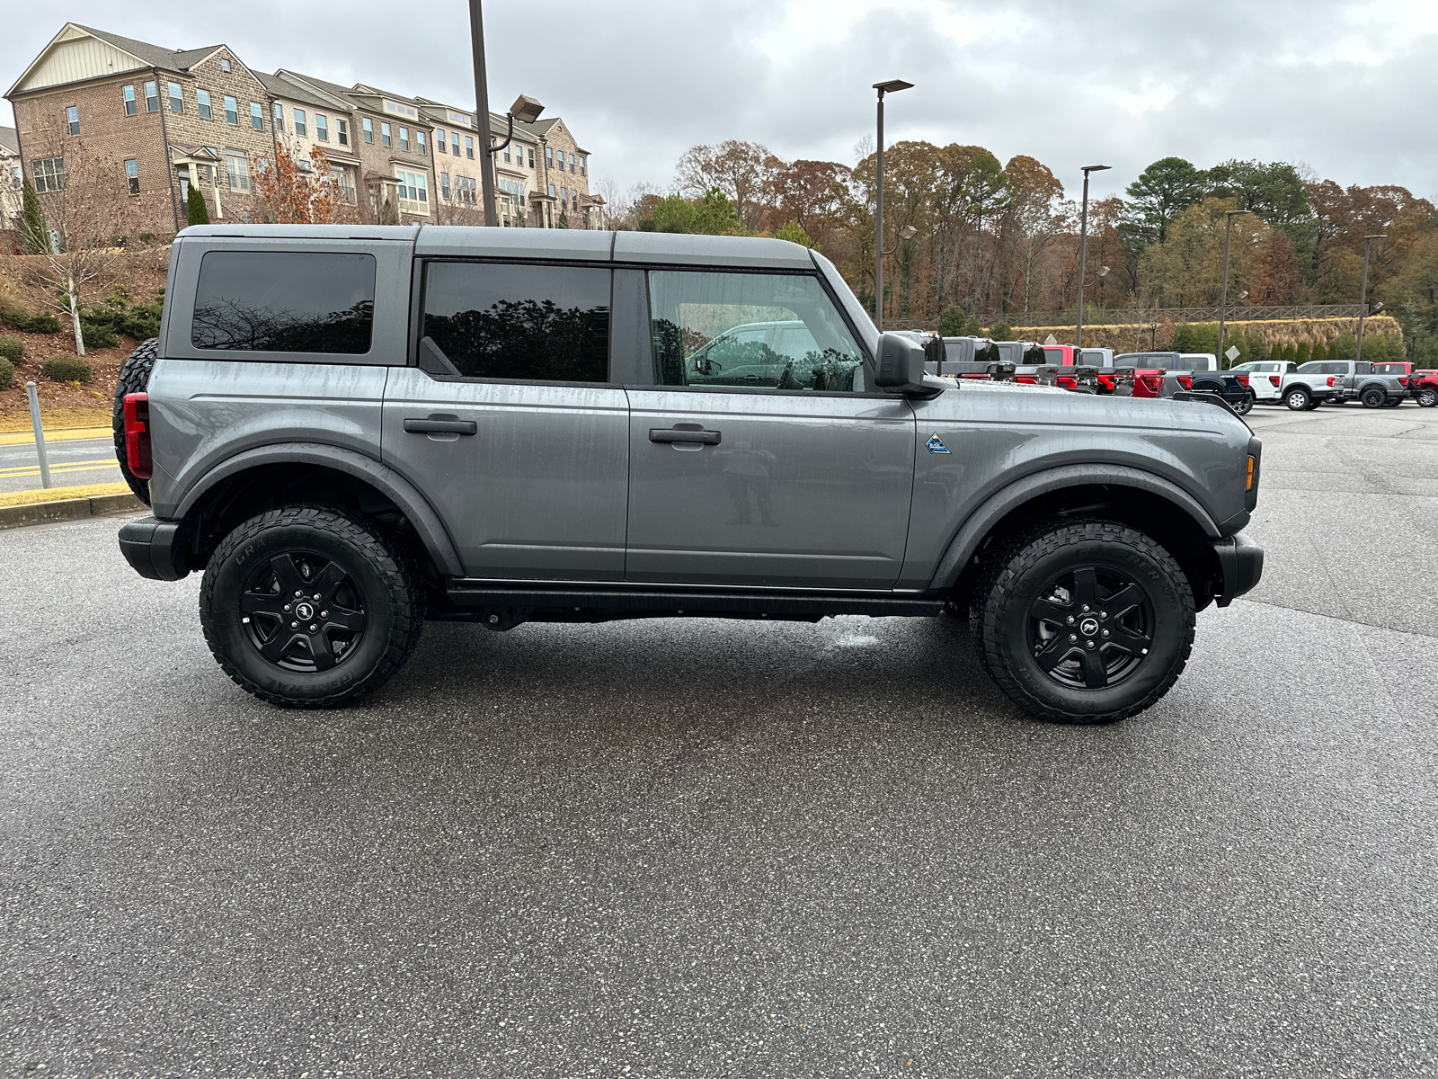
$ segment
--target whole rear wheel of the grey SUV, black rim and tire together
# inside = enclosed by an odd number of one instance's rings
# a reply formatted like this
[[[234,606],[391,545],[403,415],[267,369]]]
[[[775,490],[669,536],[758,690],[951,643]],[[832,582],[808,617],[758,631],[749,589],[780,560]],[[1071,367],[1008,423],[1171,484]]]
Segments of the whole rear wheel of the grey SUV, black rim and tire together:
[[[200,622],[236,683],[286,708],[354,704],[408,659],[420,583],[360,515],[286,506],[230,532],[204,571]]]

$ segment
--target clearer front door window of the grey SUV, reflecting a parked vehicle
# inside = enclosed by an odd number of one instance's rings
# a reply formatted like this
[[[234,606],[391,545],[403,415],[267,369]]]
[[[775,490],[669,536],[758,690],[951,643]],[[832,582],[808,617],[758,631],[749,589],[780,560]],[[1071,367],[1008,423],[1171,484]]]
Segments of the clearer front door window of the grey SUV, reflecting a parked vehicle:
[[[817,278],[653,270],[649,295],[660,386],[864,388],[858,345]]]

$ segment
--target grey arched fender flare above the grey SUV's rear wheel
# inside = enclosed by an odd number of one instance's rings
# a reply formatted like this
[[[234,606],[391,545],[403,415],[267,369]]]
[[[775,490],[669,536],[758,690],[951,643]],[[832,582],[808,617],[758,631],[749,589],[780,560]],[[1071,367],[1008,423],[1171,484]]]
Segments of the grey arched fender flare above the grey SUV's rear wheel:
[[[374,457],[367,457],[362,453],[341,446],[326,446],[319,442],[282,442],[236,453],[223,465],[217,465],[206,472],[186,492],[186,496],[175,508],[174,516],[186,518],[216,483],[262,465],[318,465],[364,481],[394,502],[408,518],[420,541],[424,544],[424,550],[429,551],[430,558],[434,560],[434,565],[439,567],[440,573],[450,577],[464,575],[464,567],[459,560],[454,541],[450,540],[444,522],[440,521],[439,514],[434,512],[434,506],[429,504],[424,495],[388,465],[383,465]]]

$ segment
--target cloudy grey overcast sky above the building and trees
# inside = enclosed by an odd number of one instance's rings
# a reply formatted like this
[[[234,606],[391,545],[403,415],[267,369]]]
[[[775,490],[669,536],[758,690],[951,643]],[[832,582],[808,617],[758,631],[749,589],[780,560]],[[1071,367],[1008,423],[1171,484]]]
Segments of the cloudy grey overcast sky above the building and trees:
[[[262,70],[473,101],[460,0],[423,14],[371,0],[4,9],[6,88],[70,19],[177,49],[223,42]],[[1080,165],[1113,165],[1094,177],[1104,196],[1172,154],[1296,161],[1438,197],[1432,0],[490,0],[485,17],[490,105],[539,98],[594,176],[624,188],[667,187],[687,147],[725,138],[853,164],[873,131],[870,85],[903,78],[916,85],[889,98],[887,141],[1028,154],[1071,194]]]

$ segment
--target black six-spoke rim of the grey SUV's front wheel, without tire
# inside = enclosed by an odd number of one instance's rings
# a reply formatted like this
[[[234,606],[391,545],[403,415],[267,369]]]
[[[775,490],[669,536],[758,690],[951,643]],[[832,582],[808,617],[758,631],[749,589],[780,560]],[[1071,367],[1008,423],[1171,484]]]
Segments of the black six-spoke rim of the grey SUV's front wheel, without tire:
[[[1104,565],[1055,577],[1028,609],[1028,649],[1066,689],[1110,689],[1133,678],[1153,649],[1153,603]]]

